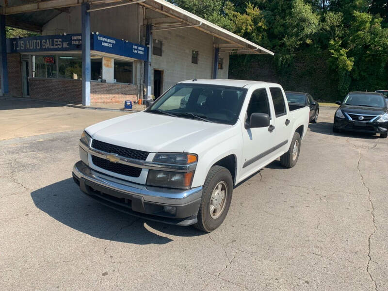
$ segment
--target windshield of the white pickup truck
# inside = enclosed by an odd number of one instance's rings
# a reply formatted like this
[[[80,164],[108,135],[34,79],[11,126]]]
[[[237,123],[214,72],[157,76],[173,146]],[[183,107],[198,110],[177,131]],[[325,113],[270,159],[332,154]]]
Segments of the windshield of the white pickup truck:
[[[233,125],[247,89],[208,84],[177,84],[146,112]]]

